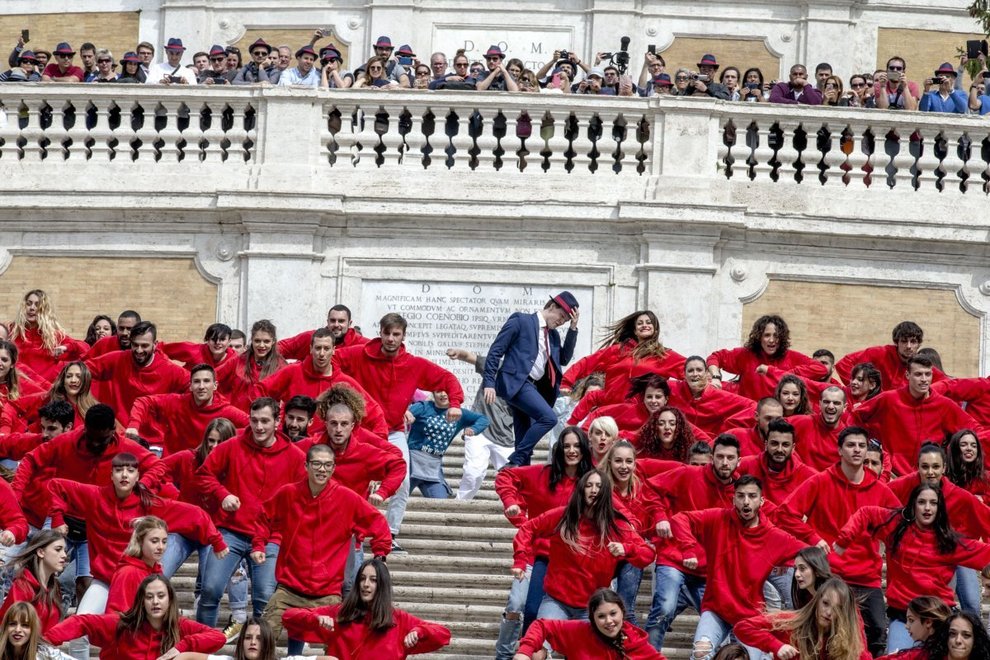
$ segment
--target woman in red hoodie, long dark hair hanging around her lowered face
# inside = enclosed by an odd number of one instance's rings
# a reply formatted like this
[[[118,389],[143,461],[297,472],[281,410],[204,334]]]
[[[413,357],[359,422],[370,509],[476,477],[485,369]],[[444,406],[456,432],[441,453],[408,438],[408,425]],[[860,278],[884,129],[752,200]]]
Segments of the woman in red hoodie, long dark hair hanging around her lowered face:
[[[586,619],[586,599],[612,582],[619,562],[644,568],[656,557],[653,546],[615,508],[612,486],[598,470],[578,479],[567,506],[519,528],[512,541],[516,579],[525,575],[537,540],[544,537],[550,539],[550,561],[537,618]]]

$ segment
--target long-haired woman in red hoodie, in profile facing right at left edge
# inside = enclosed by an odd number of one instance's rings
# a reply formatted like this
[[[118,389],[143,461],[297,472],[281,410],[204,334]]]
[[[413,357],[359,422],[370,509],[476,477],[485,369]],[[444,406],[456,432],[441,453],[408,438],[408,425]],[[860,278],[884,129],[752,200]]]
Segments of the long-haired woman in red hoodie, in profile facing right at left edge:
[[[10,562],[14,583],[0,607],[0,616],[17,602],[28,602],[38,612],[41,631],[46,632],[62,618],[62,590],[58,574],[68,560],[65,537],[44,529],[34,535],[24,549]]]

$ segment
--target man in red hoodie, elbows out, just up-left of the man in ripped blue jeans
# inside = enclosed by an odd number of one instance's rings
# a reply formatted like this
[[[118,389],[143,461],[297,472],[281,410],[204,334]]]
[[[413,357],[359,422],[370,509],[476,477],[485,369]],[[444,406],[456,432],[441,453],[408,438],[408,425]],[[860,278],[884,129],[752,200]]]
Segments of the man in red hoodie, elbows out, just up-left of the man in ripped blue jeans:
[[[127,436],[161,447],[162,457],[195,449],[217,417],[226,417],[238,429],[248,425],[247,413],[217,394],[216,372],[208,364],[197,364],[189,372],[188,392],[140,397],[130,417]]]

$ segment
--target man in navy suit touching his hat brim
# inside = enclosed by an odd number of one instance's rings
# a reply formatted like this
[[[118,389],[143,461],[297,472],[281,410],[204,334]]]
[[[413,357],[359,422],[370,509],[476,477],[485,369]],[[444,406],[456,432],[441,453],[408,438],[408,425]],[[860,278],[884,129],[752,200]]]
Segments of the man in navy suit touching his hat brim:
[[[571,327],[562,347],[556,329],[568,320]],[[577,323],[577,299],[563,291],[535,314],[515,312],[488,349],[482,377],[485,401],[494,403],[498,395],[512,408],[516,449],[509,466],[529,465],[536,443],[557,424],[553,404],[560,393],[561,367],[574,355]]]

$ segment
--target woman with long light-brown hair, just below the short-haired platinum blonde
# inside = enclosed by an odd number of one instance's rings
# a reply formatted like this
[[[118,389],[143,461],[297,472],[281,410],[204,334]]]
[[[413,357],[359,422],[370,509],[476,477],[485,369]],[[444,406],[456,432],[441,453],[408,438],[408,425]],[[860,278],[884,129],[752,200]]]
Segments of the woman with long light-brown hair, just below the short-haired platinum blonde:
[[[622,510],[632,516],[631,522],[643,538],[650,538],[657,525],[657,510],[662,506],[660,495],[646,485],[646,475],[638,471],[636,448],[620,440],[605,454],[602,469],[612,485],[612,496]],[[652,562],[651,562],[652,563]],[[619,565],[616,591],[622,596],[626,620],[636,623],[636,595],[643,581],[643,569],[628,562]]]

